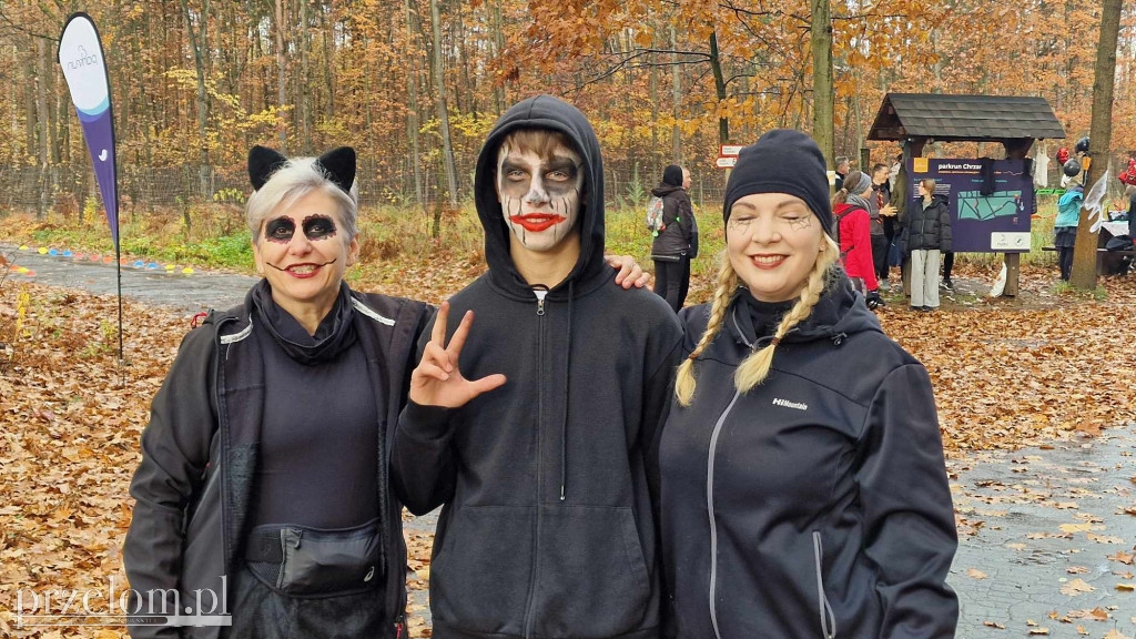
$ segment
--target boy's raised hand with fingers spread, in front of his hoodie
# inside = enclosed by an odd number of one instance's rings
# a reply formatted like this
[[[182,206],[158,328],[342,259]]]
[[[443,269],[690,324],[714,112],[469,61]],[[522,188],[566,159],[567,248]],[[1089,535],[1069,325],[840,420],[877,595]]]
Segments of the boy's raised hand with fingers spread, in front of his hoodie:
[[[461,324],[445,347],[445,324],[450,315],[450,302],[443,301],[434,321],[431,340],[423,350],[423,360],[410,374],[410,400],[420,406],[444,406],[458,408],[470,399],[488,392],[506,382],[504,375],[486,375],[479,380],[467,380],[458,367],[458,356],[466,345],[469,326],[474,323],[474,312],[467,310]]]

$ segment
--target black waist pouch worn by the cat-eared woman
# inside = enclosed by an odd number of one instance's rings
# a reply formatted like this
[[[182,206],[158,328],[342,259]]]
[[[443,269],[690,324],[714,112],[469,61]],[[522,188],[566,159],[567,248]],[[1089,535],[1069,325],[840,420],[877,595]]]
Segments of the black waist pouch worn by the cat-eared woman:
[[[252,530],[244,558],[266,586],[290,597],[333,597],[383,582],[378,518],[326,530],[269,524]]]

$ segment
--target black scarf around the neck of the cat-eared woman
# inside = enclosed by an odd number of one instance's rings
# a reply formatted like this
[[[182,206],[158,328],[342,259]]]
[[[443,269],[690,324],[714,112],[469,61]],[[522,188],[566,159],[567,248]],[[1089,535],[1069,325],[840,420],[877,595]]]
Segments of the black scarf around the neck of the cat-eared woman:
[[[252,287],[252,302],[259,323],[289,357],[301,364],[310,366],[334,359],[356,342],[352,323],[354,307],[351,305],[351,291],[346,282],[340,283],[335,306],[319,322],[315,335],[309,335],[295,317],[273,300],[268,280],[261,280]]]

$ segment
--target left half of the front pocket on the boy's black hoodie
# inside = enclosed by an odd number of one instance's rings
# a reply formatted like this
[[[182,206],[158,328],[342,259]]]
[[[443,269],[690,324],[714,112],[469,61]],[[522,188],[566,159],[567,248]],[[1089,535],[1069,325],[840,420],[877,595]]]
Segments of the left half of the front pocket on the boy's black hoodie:
[[[467,632],[524,634],[536,511],[457,508],[431,563],[434,619]]]

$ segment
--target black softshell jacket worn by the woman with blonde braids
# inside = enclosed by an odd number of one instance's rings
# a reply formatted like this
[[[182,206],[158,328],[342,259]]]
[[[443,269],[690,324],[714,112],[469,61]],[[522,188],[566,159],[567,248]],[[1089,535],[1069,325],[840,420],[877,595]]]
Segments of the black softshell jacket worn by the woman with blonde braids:
[[[677,636],[954,637],[954,515],[927,372],[841,275],[738,395],[754,337],[737,307],[662,434]],[[682,310],[687,349],[709,310]]]

